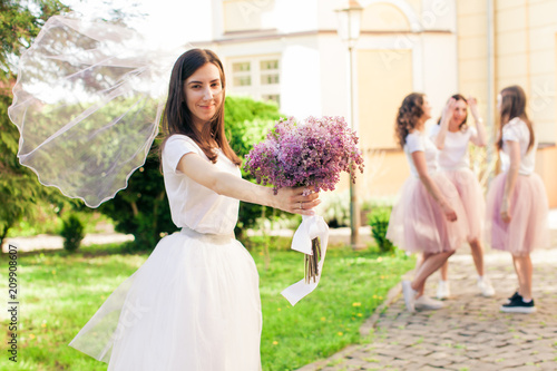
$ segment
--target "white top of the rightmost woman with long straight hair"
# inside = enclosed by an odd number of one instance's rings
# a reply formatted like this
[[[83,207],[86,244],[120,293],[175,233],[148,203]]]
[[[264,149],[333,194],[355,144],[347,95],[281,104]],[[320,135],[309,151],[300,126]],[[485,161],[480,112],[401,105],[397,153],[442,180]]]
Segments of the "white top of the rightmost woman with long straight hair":
[[[534,143],[534,146],[528,152],[530,130],[528,130],[526,123],[515,117],[502,127],[502,150],[499,152],[502,172],[507,172],[510,167],[510,149],[509,146],[507,146],[507,140],[518,141],[520,145],[520,168],[518,169],[518,174],[530,175],[534,173],[534,168],[536,167],[537,143]]]

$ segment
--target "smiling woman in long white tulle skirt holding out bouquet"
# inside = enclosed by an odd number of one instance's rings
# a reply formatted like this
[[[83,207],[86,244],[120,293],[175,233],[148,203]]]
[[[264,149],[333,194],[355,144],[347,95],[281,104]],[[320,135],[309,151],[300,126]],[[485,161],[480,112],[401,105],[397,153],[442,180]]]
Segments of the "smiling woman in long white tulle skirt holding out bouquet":
[[[241,178],[224,130],[225,76],[211,50],[176,61],[162,163],[173,222],[153,254],[70,345],[116,371],[257,371],[258,275],[234,238],[240,201],[313,215],[319,194]]]

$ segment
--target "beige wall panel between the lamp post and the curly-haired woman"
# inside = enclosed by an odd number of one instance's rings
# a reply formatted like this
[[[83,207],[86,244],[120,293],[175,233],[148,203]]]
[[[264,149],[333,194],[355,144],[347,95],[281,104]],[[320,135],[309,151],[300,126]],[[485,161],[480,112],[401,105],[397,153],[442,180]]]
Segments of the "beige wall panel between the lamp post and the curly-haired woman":
[[[410,174],[394,138],[394,119],[402,97],[412,91],[412,51],[390,50],[397,59],[387,65],[385,50],[356,51],[360,148],[365,170],[359,183],[361,199],[392,197]],[[397,99],[385,99],[397,97]]]

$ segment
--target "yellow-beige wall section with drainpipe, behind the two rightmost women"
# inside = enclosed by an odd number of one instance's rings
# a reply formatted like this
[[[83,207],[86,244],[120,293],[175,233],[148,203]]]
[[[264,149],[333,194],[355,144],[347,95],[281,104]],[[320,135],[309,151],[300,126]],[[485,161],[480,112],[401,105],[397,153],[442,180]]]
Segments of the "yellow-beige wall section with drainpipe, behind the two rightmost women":
[[[458,1],[459,89],[478,97],[488,113],[488,0]],[[537,172],[543,176],[551,207],[557,207],[557,1],[494,0],[495,95],[520,85],[529,99],[528,115],[538,141]],[[492,107],[496,101],[494,99]],[[496,129],[492,128],[495,133]],[[549,144],[549,146],[547,145]],[[553,145],[553,147],[551,147]]]

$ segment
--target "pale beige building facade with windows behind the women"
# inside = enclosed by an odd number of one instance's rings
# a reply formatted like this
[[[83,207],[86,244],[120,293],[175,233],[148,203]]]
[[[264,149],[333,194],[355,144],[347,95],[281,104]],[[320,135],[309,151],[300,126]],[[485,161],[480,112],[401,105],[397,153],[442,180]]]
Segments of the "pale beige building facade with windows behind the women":
[[[540,144],[537,172],[557,207],[557,20],[551,19],[557,1],[360,0],[352,80],[348,45],[338,35],[335,10],[343,4],[197,2],[192,13],[211,21],[195,29],[186,25],[185,31],[194,36],[194,46],[213,49],[223,59],[228,95],[275,101],[285,116],[300,119],[350,118],[353,107],[351,125],[367,157],[360,199],[393,197],[409,176],[393,131],[405,95],[426,92],[434,119],[452,94],[472,95],[495,135],[497,91],[521,85]],[[486,180],[496,158],[492,148],[475,154],[472,164]],[[345,187],[346,179],[340,188]]]

